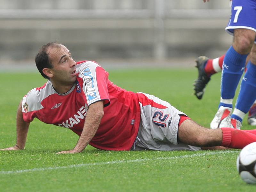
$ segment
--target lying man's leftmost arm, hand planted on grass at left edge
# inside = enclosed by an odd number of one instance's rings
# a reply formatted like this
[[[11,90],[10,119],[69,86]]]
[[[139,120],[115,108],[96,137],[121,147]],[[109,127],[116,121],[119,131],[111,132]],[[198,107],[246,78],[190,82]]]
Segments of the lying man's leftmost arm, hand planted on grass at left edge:
[[[10,150],[20,150],[25,148],[29,123],[23,120],[21,106],[22,106],[22,100],[20,101],[20,104],[17,110],[17,116],[16,116],[16,134],[17,134],[16,145],[14,147],[9,147],[9,148],[0,149],[0,150],[10,151]]]

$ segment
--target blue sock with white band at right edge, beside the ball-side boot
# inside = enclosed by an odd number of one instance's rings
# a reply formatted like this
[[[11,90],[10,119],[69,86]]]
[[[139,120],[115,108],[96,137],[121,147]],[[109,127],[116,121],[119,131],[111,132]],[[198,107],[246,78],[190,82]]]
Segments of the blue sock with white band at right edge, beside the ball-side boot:
[[[241,88],[231,118],[242,122],[244,115],[250,110],[256,99],[256,65],[251,61],[247,64],[248,69],[241,82]]]

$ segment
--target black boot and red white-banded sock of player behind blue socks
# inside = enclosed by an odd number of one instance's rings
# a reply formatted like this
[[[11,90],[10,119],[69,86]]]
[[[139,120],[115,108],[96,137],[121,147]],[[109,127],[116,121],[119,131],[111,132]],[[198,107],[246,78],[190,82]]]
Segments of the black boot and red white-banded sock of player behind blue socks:
[[[197,99],[202,99],[204,95],[204,88],[206,84],[211,80],[212,74],[218,73],[222,70],[222,63],[225,55],[215,59],[209,59],[205,56],[198,57],[196,61],[196,67],[198,69],[198,77],[194,83],[194,90]]]

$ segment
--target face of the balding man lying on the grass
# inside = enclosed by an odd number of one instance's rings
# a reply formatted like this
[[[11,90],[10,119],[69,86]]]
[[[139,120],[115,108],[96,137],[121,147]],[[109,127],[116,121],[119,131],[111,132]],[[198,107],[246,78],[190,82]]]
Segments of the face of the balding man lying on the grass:
[[[64,45],[49,47],[47,50],[52,63],[51,80],[61,85],[74,84],[76,81],[76,62]]]

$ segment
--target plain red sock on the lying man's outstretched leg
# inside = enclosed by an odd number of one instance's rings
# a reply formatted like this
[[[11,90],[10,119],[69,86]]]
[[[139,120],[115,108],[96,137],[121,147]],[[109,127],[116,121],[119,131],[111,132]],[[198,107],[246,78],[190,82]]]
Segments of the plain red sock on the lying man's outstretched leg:
[[[256,135],[244,130],[223,127],[222,143],[220,146],[228,148],[242,149],[246,145],[256,141]],[[255,130],[256,131],[256,130]]]

